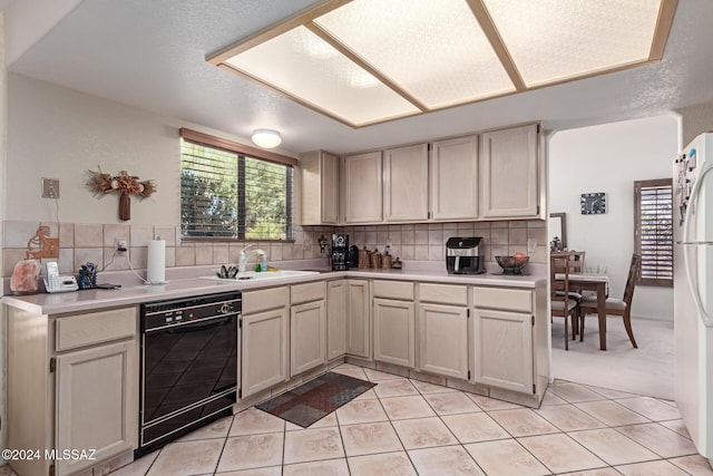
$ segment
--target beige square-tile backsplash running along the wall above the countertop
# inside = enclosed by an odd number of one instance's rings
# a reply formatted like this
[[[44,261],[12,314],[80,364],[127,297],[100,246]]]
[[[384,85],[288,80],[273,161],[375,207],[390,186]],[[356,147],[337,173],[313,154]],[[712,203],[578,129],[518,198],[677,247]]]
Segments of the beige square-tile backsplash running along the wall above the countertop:
[[[59,236],[59,269],[61,273],[76,273],[86,262],[99,265],[100,270],[123,271],[130,266],[146,269],[147,246],[150,240],[166,240],[166,266],[194,266],[237,263],[245,242],[194,242],[180,240],[180,227],[96,224],[96,223],[39,223],[31,221],[6,221],[3,226],[2,256],[4,278],[12,274],[14,264],[26,258],[28,240],[37,227],[49,227],[49,236]],[[271,263],[292,260],[326,258],[322,254],[319,237],[330,237],[333,232],[348,233],[350,244],[369,250],[384,250],[391,244],[391,254],[401,260],[442,261],[446,241],[450,236],[482,236],[486,261],[496,255],[528,252],[531,262],[544,263],[547,259],[546,221],[421,223],[372,226],[295,226],[294,242],[257,242],[265,250]],[[115,253],[115,240],[125,239],[128,253]],[[528,243],[535,251],[528,251]],[[533,249],[530,249],[533,250]],[[128,259],[127,259],[128,255]]]

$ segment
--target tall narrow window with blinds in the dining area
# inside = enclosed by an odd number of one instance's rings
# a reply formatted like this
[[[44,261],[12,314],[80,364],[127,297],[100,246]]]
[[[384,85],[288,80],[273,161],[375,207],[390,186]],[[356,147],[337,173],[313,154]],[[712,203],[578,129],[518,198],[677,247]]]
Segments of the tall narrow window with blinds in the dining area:
[[[642,255],[637,284],[673,285],[673,183],[634,182],[635,243]]]

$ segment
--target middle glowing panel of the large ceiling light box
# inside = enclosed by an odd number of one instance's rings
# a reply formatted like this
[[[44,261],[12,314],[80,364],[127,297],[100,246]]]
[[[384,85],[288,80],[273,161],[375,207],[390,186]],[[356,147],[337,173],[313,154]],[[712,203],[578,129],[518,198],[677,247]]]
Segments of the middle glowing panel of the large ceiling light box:
[[[515,90],[462,0],[359,0],[314,22],[429,109]]]

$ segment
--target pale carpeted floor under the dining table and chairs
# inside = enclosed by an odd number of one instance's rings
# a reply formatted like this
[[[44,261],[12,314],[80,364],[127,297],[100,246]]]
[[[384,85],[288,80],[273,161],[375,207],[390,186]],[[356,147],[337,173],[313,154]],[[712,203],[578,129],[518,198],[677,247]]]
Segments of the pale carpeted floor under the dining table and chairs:
[[[557,379],[613,390],[674,399],[674,334],[672,321],[633,319],[634,349],[621,318],[607,319],[607,350],[599,350],[596,317],[588,317],[584,342],[569,341],[565,351],[561,318],[553,322],[553,369]],[[572,338],[572,337],[570,337]]]

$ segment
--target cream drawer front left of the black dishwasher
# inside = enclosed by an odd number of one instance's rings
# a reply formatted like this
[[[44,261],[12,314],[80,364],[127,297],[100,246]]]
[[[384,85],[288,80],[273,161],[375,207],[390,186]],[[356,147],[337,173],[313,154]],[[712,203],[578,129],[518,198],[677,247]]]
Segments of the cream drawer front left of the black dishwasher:
[[[136,308],[111,309],[57,319],[58,352],[136,336]]]

